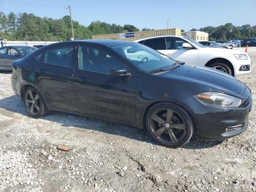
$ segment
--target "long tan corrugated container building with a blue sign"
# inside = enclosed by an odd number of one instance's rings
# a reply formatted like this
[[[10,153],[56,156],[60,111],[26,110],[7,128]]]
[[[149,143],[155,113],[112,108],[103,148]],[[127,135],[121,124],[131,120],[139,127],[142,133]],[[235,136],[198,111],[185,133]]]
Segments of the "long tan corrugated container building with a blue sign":
[[[181,30],[179,28],[173,28],[173,29],[115,33],[115,34],[105,34],[105,35],[93,35],[92,39],[117,39],[117,40],[134,41],[137,39],[152,37],[157,35],[181,35]]]

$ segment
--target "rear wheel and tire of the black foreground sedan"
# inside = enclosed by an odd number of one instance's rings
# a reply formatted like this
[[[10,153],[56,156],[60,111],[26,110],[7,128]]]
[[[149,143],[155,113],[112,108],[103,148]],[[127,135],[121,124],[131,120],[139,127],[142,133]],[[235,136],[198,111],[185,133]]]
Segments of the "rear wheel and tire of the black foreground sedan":
[[[31,93],[34,99],[31,98]],[[33,118],[40,118],[42,116],[46,116],[50,112],[41,94],[36,88],[32,86],[29,86],[25,89],[23,94],[23,103],[28,115]],[[33,110],[31,109],[32,105],[34,105]]]

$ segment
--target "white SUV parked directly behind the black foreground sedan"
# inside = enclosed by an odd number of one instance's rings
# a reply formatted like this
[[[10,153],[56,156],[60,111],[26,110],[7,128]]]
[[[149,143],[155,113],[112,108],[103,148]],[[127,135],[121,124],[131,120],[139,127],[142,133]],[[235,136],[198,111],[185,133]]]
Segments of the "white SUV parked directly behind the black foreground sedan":
[[[232,76],[251,72],[251,60],[246,52],[208,48],[184,36],[162,35],[135,40],[170,58],[192,65],[215,68]],[[138,58],[143,58],[138,55]]]

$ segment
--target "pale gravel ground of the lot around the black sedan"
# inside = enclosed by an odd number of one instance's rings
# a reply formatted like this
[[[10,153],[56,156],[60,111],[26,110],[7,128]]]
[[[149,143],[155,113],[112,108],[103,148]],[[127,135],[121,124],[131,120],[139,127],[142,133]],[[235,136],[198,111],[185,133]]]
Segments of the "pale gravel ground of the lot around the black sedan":
[[[256,98],[256,48],[248,50],[253,71],[238,79]],[[123,124],[60,112],[30,118],[10,77],[0,74],[0,191],[256,190],[255,99],[240,136],[171,149]]]

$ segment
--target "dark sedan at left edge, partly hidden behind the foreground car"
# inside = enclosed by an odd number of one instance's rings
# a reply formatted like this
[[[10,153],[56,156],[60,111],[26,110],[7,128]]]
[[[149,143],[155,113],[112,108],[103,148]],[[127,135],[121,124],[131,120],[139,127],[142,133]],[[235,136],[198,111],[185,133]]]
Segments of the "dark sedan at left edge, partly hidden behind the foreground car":
[[[12,62],[37,50],[31,46],[5,46],[0,48],[0,70],[12,71]]]

